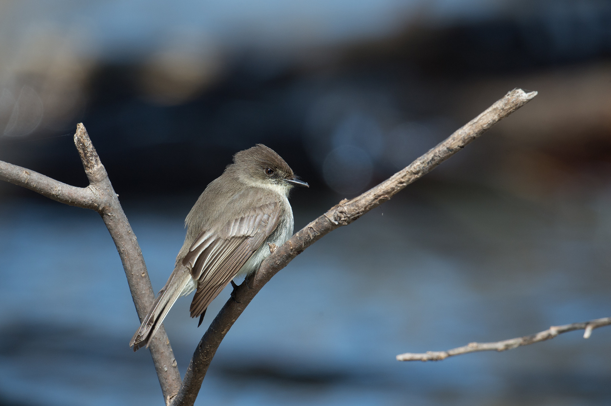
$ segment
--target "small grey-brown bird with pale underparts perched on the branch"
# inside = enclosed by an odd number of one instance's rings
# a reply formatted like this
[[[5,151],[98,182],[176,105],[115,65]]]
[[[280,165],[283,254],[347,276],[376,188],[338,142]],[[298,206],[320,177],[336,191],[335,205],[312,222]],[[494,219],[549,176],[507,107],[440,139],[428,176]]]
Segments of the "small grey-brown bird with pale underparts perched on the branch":
[[[308,184],[265,145],[233,155],[233,163],[210,182],[187,215],[185,243],[174,272],[131,339],[134,351],[148,347],[178,297],[196,289],[191,317],[200,316],[202,324],[206,308],[227,283],[257,271],[270,246],[280,246],[293,235],[287,198],[294,186]]]

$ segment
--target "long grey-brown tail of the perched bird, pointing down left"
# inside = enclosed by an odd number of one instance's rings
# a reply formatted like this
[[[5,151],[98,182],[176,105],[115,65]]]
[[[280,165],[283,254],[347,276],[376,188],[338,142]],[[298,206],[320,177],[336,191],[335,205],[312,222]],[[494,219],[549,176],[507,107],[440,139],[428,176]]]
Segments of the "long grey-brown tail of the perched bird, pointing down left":
[[[189,272],[181,272],[185,269],[175,269],[167,280],[166,285],[159,291],[155,298],[152,307],[148,310],[147,316],[142,319],[140,328],[131,338],[130,347],[134,347],[134,352],[142,347],[148,347],[148,344],[157,332],[163,319],[166,318],[167,312],[177,301],[180,294],[183,292],[186,284],[191,279]]]

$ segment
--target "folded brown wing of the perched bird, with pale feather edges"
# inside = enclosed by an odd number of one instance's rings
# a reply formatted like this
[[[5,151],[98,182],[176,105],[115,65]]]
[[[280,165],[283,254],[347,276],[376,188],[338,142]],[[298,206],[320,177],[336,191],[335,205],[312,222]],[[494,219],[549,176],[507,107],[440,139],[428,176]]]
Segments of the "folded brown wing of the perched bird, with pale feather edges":
[[[276,230],[279,203],[274,201],[236,215],[218,229],[203,230],[183,259],[197,279],[191,317],[199,316],[240,268]]]

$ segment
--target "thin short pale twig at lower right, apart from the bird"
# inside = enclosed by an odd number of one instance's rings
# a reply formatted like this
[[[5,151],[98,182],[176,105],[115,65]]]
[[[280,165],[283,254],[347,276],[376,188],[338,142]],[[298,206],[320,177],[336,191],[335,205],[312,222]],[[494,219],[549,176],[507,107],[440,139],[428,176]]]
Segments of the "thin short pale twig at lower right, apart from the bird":
[[[441,361],[447,357],[454,355],[469,354],[469,352],[478,351],[506,351],[519,346],[527,346],[529,344],[540,343],[541,341],[551,340],[558,334],[566,333],[574,330],[585,330],[584,338],[590,338],[593,329],[598,327],[609,326],[611,317],[584,321],[581,323],[565,324],[565,326],[552,326],[549,329],[524,337],[511,338],[511,340],[497,341],[496,343],[469,343],[464,347],[454,348],[448,351],[427,351],[425,354],[405,354],[397,355],[397,361]]]

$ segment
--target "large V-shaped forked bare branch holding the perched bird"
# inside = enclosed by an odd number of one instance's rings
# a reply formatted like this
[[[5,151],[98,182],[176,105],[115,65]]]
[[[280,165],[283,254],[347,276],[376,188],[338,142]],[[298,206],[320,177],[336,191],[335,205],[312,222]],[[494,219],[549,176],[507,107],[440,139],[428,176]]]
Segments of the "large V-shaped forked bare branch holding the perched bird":
[[[417,158],[411,165],[378,186],[360,194],[360,196],[349,200],[343,199],[295,233],[282,246],[270,246],[271,255],[262,262],[259,270],[247,277],[241,285],[233,284],[232,297],[225,302],[225,305],[203,335],[202,340],[197,344],[182,382],[170,341],[163,326],[161,326],[153,337],[149,349],[166,404],[171,406],[194,404],[208,366],[210,366],[219,344],[221,344],[233,323],[265,283],[280,269],[287,266],[293,258],[327,233],[352,223],[371,209],[388,201],[409,183],[432,171],[437,165],[480,137],[501,119],[532,100],[536,94],[536,91],[526,93],[521,89],[510,91],[505,97],[486,109],[485,112],[456,130],[450,137],[431,148],[426,154]],[[121,257],[134,305],[136,305],[136,311],[142,320],[153,304],[155,294],[148,278],[141,249],[119,203],[119,195],[113,190],[106,169],[100,162],[100,158],[82,124],[78,124],[76,129],[75,145],[90,182],[86,188],[67,185],[29,169],[2,161],[0,161],[0,180],[29,188],[55,201],[90,208],[100,213]],[[592,326],[591,329],[598,327],[598,324]],[[587,326],[584,326],[584,328],[586,328],[586,334],[589,337]],[[479,344],[476,343],[476,345]],[[436,356],[441,357],[441,355]],[[445,355],[445,357],[447,356]]]

